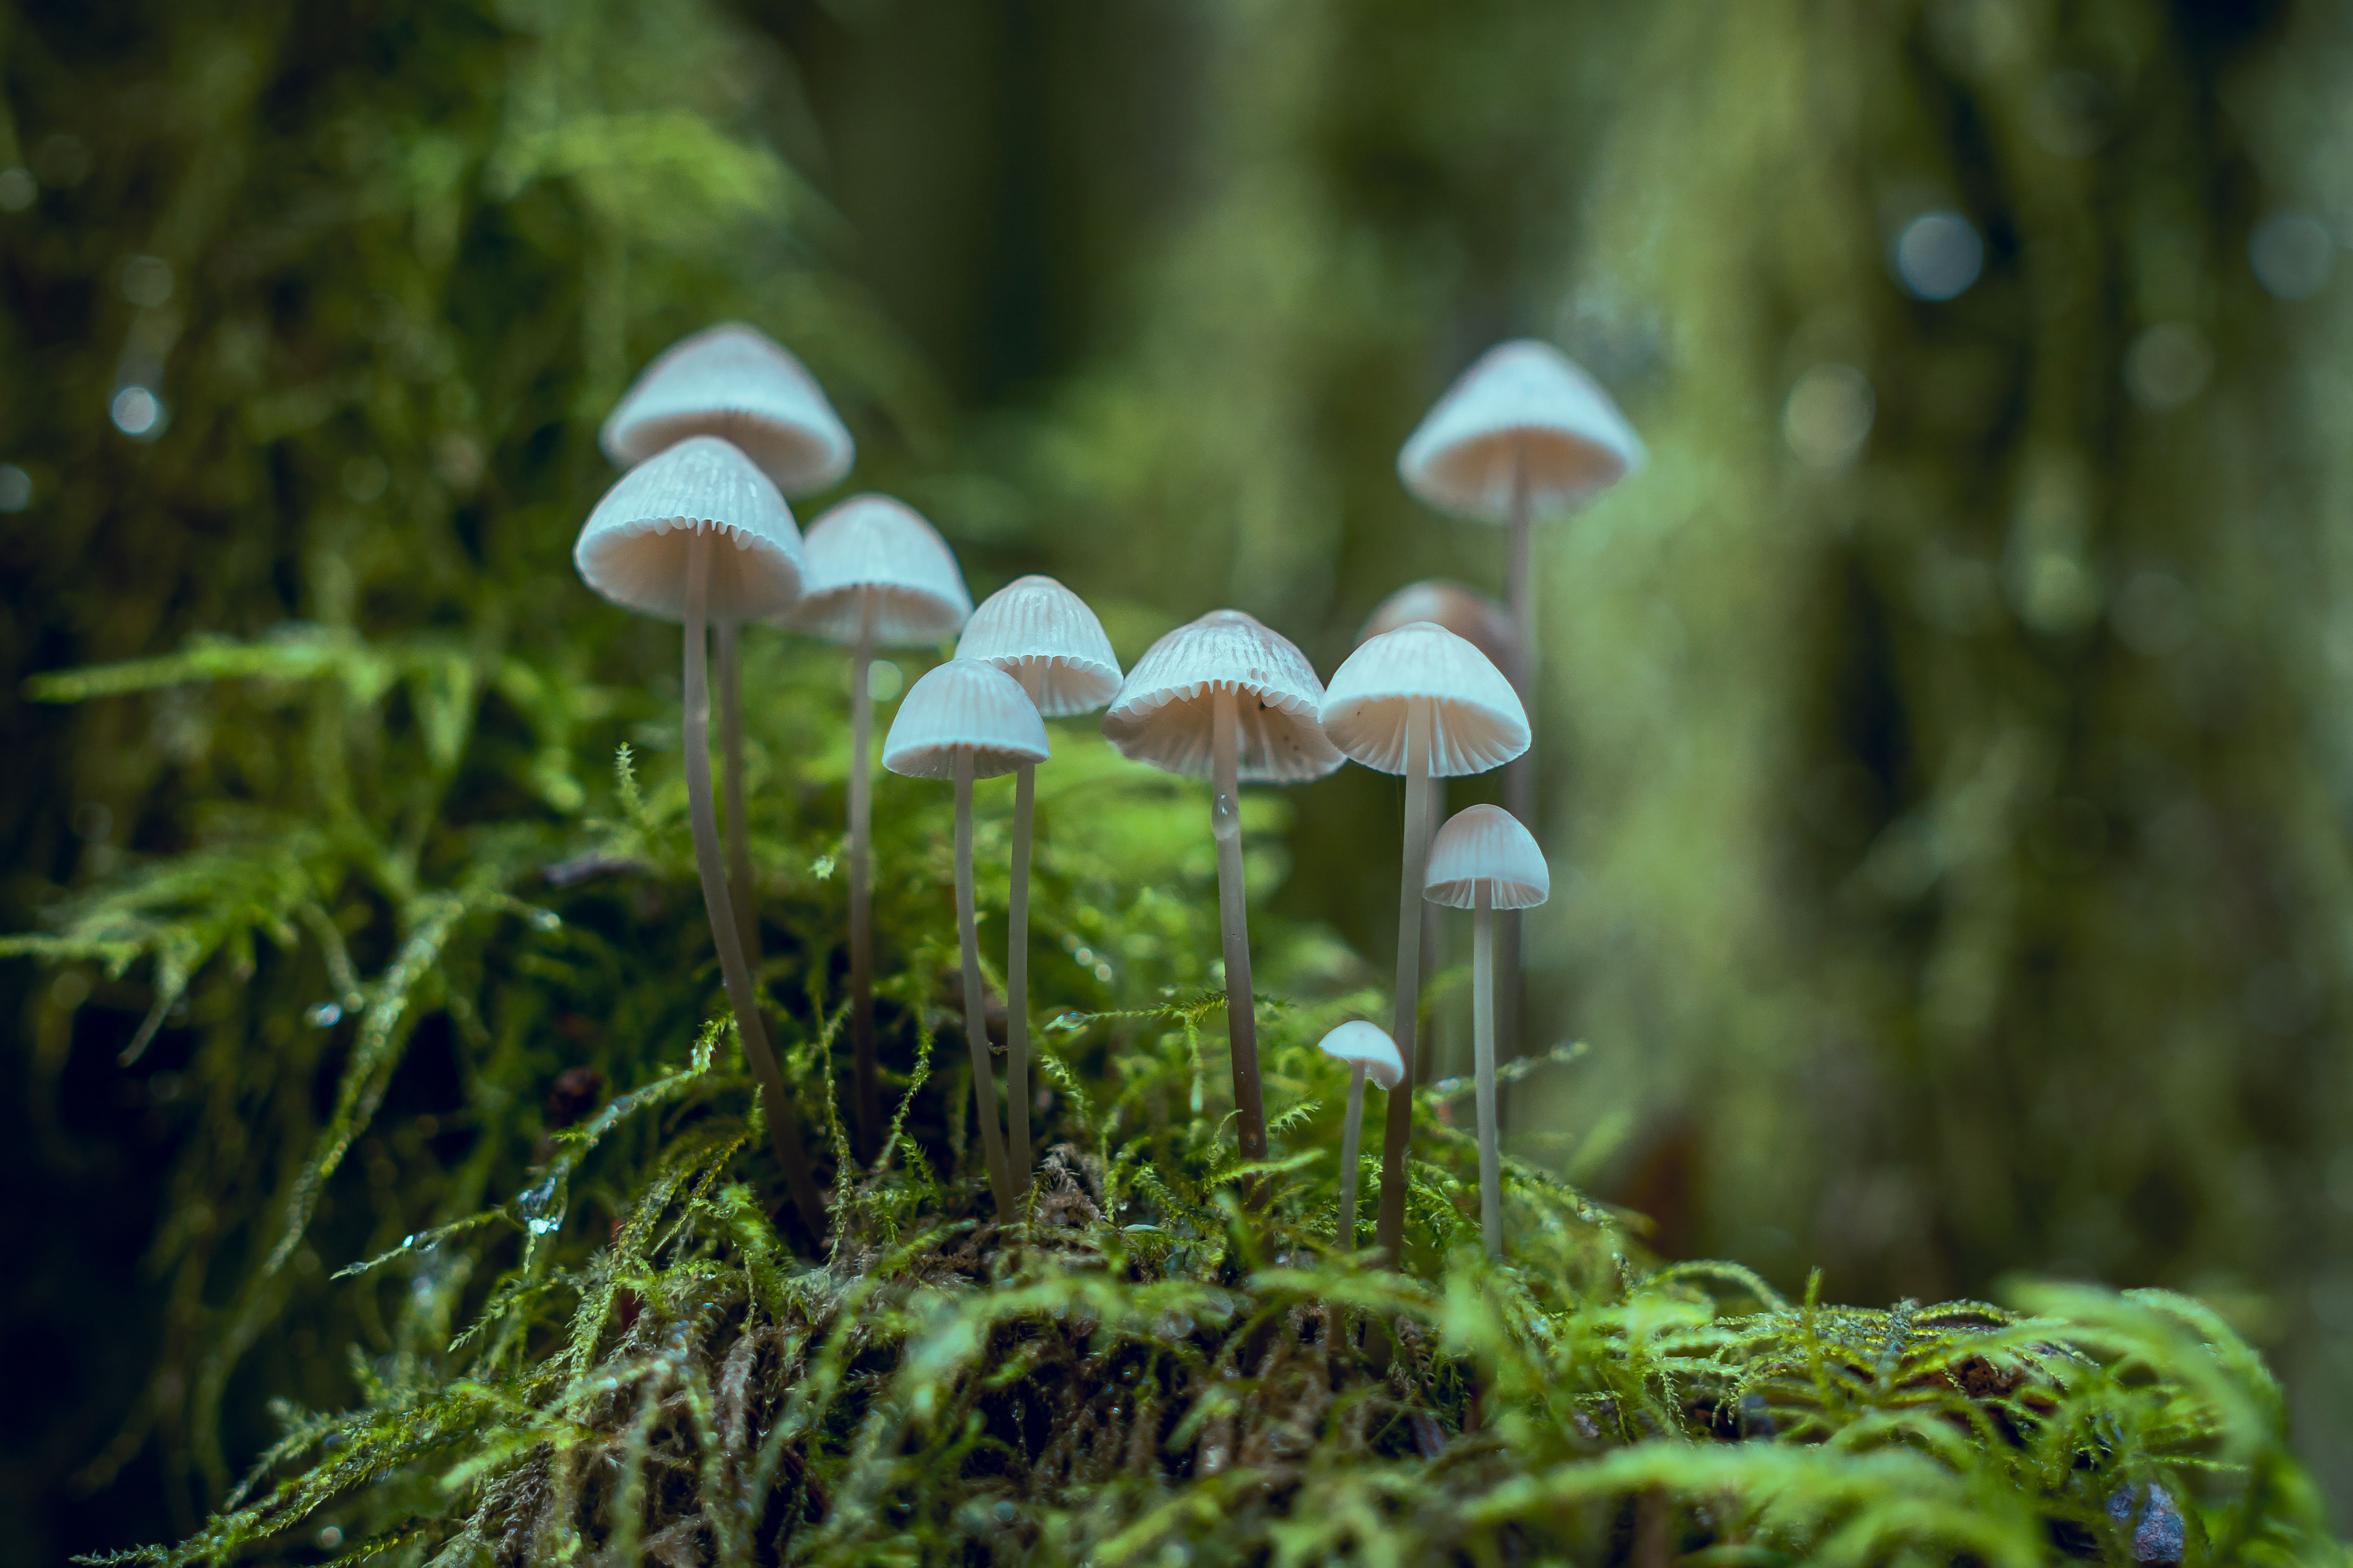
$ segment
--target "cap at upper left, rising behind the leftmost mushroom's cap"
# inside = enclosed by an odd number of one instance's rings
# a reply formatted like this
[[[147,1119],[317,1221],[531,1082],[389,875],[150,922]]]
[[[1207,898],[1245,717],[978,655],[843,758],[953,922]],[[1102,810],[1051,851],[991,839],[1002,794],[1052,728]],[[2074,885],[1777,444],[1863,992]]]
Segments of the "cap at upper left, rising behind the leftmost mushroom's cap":
[[[826,489],[856,458],[816,376],[741,322],[706,327],[661,350],[598,440],[605,456],[628,465],[689,435],[725,435],[788,496]]]

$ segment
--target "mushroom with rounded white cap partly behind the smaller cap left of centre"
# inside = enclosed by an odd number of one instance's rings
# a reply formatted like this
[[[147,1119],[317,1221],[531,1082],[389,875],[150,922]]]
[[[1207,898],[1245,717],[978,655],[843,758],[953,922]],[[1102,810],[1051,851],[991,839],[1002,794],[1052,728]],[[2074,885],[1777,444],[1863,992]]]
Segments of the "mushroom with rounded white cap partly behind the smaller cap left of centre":
[[[1049,576],[1014,578],[965,623],[958,658],[1005,670],[1045,719],[1094,712],[1120,691],[1120,656],[1087,602]],[[1014,769],[1014,884],[1005,912],[1005,1100],[1014,1171],[1028,1178],[1028,863],[1038,769]]]

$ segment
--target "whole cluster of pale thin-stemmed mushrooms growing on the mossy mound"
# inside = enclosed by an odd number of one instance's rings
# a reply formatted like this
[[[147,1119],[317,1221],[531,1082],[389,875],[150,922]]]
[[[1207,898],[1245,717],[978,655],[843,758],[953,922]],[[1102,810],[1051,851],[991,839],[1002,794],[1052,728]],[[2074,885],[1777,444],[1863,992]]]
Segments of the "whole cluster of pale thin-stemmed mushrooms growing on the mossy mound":
[[[1398,898],[1398,990],[1391,1030],[1344,1023],[1322,1048],[1351,1065],[1341,1140],[1337,1241],[1358,1239],[1355,1194],[1365,1079],[1388,1091],[1377,1246],[1400,1255],[1405,1157],[1412,1135],[1414,1020],[1424,924],[1438,905],[1473,910],[1473,1070],[1478,1084],[1480,1220],[1501,1255],[1497,1157],[1497,997],[1515,940],[1494,914],[1544,903],[1548,870],[1529,832],[1537,804],[1527,696],[1534,686],[1539,512],[1574,508],[1631,473],[1642,449],[1609,397],[1546,343],[1489,350],[1431,409],[1398,456],[1417,496],[1513,531],[1513,604],[1454,583],[1417,583],[1384,604],[1355,651],[1315,677],[1289,639],[1238,609],[1217,609],[1160,637],[1120,672],[1101,621],[1068,588],[1024,576],[979,609],[955,552],[913,508],[852,496],[793,527],[786,496],[838,484],[856,458],[809,371],[753,327],[720,324],[656,357],[602,428],[628,473],[581,527],[574,564],[598,595],[685,623],[685,759],[694,867],[744,1056],[793,1206],[824,1234],[824,1194],[753,987],[758,919],[746,842],[739,635],[784,625],[849,649],[849,1039],[854,1135],[882,1138],[873,1044],[873,689],[878,649],[936,646],[955,658],[906,691],[882,741],[882,766],[955,785],[955,919],[965,978],[965,1041],[981,1152],[998,1215],[1012,1220],[1031,1166],[1028,1135],[1028,863],[1033,776],[1049,757],[1045,719],[1104,708],[1104,733],[1127,757],[1212,785],[1209,830],[1226,957],[1226,1030],[1242,1161],[1266,1159],[1266,1107],[1249,987],[1240,785],[1306,783],[1355,759],[1405,776]],[[711,651],[718,632],[725,846],[711,785]],[[1445,780],[1513,766],[1511,811],[1445,818]],[[1000,1126],[972,898],[972,785],[1014,773],[1012,900],[1005,954],[1007,1119]],[[1402,1093],[1400,1093],[1402,1086]]]

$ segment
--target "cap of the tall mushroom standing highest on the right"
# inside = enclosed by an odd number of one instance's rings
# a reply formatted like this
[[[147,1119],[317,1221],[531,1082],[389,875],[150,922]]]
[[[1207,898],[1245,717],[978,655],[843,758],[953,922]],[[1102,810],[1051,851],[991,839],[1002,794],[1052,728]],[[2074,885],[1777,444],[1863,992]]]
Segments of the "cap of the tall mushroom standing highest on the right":
[[[1513,470],[1537,512],[1584,505],[1642,465],[1609,393],[1551,343],[1497,343],[1398,451],[1405,489],[1440,512],[1511,520]]]

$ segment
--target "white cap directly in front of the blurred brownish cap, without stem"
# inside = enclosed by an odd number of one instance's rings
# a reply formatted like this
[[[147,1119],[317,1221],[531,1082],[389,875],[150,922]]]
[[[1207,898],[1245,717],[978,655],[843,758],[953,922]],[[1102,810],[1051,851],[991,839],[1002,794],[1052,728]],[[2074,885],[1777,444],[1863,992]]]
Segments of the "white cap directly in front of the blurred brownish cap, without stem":
[[[1527,750],[1527,710],[1504,672],[1442,625],[1414,621],[1365,642],[1332,675],[1325,736],[1367,769],[1405,771],[1405,724],[1431,710],[1431,773],[1499,769]]]

